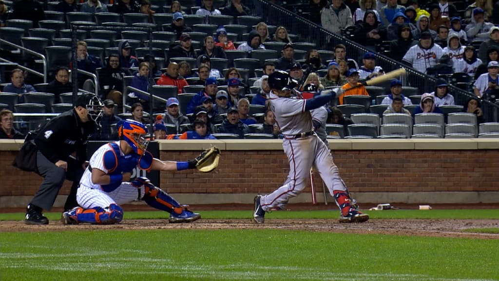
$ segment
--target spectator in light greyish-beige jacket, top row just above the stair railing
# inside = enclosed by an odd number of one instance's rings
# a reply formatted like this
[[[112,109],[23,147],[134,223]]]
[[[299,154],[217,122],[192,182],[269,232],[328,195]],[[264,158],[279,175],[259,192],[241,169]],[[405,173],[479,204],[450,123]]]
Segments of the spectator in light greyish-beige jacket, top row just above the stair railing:
[[[341,34],[341,29],[353,25],[352,12],[341,0],[332,0],[329,7],[322,10],[321,22],[325,29]]]

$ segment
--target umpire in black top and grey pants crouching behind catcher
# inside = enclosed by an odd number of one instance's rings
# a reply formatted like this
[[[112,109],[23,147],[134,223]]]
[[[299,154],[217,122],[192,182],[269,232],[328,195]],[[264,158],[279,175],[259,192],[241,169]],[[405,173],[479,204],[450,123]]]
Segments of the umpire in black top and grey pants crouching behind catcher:
[[[50,210],[65,179],[72,180],[64,210],[77,206],[76,189],[84,171],[86,144],[102,114],[102,102],[94,94],[78,97],[73,109],[50,120],[34,136],[37,172],[43,181],[26,207],[26,224],[48,224],[42,209]]]

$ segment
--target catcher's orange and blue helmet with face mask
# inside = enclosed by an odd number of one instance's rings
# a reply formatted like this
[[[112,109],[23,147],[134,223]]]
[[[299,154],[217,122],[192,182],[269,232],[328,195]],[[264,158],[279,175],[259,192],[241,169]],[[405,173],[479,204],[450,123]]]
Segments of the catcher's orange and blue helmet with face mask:
[[[147,127],[132,119],[121,120],[116,126],[118,126],[120,139],[126,140],[135,153],[144,154],[149,144],[149,141],[144,138],[148,133]]]

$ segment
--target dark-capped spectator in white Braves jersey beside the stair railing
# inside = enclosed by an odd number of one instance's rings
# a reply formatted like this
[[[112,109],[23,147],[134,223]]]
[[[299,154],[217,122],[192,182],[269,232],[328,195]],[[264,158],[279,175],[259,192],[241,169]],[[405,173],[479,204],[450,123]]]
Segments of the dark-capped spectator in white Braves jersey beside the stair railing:
[[[429,67],[437,65],[437,60],[442,57],[444,51],[435,44],[430,32],[425,31],[421,34],[419,43],[412,46],[402,58],[405,62],[414,69],[426,73]]]

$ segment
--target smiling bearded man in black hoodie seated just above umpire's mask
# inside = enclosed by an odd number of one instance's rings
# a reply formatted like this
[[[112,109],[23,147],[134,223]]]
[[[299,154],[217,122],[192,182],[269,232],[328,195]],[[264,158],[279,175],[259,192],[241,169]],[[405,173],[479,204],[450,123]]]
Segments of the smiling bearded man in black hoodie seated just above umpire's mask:
[[[110,54],[106,66],[99,72],[100,96],[110,98],[114,103],[123,103],[123,77],[131,76],[130,69],[121,67],[118,54]]]

